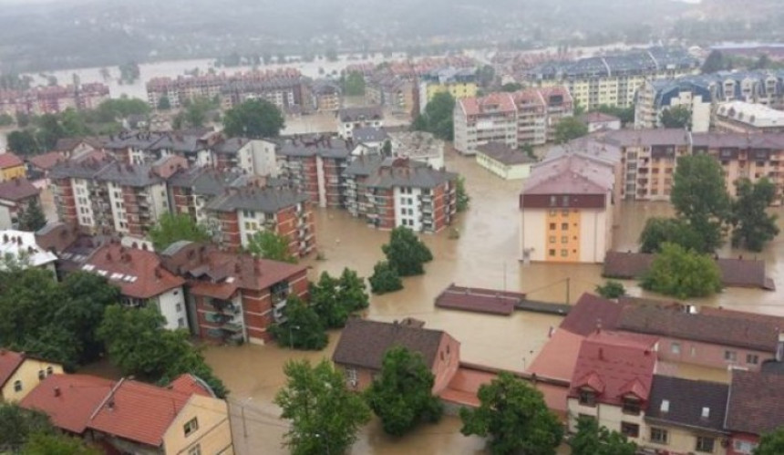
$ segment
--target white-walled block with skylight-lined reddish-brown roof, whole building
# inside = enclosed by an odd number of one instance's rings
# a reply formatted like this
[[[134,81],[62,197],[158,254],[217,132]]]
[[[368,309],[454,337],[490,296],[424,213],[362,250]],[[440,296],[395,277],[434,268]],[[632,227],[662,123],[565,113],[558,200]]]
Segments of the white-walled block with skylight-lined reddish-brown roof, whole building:
[[[185,280],[166,270],[158,255],[146,247],[126,248],[119,243],[107,243],[95,250],[81,269],[104,276],[110,284],[119,286],[121,305],[153,307],[166,319],[166,328],[188,328],[182,292]]]

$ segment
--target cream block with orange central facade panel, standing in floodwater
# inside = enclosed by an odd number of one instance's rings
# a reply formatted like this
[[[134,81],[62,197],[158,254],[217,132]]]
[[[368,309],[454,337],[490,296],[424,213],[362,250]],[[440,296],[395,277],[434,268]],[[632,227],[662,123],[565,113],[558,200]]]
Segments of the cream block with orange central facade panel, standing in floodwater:
[[[564,154],[531,169],[520,195],[521,258],[601,263],[612,246],[614,167]]]

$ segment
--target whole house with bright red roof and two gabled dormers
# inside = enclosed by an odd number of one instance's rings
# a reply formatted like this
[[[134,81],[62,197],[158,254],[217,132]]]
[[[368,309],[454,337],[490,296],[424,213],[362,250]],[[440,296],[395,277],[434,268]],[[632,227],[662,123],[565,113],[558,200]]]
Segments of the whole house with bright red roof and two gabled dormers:
[[[592,417],[639,442],[656,369],[655,336],[598,331],[585,338],[567,396],[569,429]]]

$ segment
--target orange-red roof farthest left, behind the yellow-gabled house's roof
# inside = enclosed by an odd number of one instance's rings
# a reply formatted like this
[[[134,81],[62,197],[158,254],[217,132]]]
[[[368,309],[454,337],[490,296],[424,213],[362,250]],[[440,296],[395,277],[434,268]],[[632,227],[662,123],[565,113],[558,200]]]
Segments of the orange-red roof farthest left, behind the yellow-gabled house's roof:
[[[19,405],[45,412],[59,429],[81,434],[113,385],[102,377],[53,375],[31,390]]]

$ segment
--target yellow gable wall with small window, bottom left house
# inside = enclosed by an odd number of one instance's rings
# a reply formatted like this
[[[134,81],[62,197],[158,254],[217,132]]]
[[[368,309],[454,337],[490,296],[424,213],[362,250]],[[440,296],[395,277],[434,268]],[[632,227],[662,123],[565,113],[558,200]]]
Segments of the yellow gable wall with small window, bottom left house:
[[[191,419],[196,419],[199,429],[185,436],[185,424]],[[197,445],[201,449],[198,453],[203,455],[234,453],[229,408],[222,399],[191,395],[163,435],[163,448],[167,454],[187,454]]]

